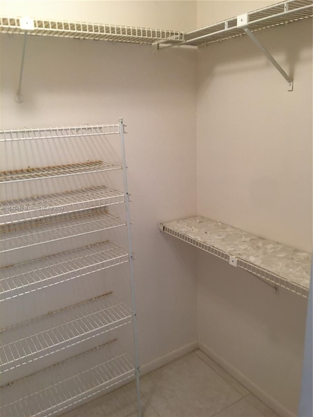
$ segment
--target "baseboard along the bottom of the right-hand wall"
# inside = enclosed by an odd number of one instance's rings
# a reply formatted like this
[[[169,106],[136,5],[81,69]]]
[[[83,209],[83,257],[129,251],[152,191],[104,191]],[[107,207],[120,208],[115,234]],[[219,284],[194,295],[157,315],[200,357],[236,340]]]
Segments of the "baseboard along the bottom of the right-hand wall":
[[[282,404],[264,392],[258,385],[247,378],[237,368],[233,367],[229,362],[224,360],[217,353],[208,348],[204,343],[199,342],[198,347],[203,353],[209,356],[214,362],[220,365],[226,372],[228,372],[233,378],[237,379],[247,390],[263,401],[268,407],[270,407],[275,413],[283,417],[296,417],[290,410],[287,410]]]

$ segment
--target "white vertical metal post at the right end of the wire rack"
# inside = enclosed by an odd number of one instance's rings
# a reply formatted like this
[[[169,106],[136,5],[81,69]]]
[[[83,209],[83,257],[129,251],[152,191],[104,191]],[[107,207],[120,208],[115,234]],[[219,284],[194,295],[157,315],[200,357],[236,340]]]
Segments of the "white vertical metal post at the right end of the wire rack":
[[[129,265],[131,275],[131,288],[132,288],[132,304],[133,304],[133,329],[134,329],[134,359],[135,359],[135,375],[136,375],[136,389],[137,389],[137,404],[138,404],[138,417],[141,417],[141,401],[140,401],[140,383],[139,383],[139,360],[138,360],[138,340],[137,340],[137,314],[135,307],[135,295],[134,295],[134,252],[132,243],[132,230],[131,230],[131,219],[129,210],[129,192],[127,182],[127,166],[126,166],[126,153],[125,153],[125,139],[124,139],[124,123],[123,119],[118,119],[119,134],[121,138],[122,148],[122,166],[123,166],[123,180],[125,190],[125,207],[126,207],[126,223],[128,231],[128,243],[129,243]]]

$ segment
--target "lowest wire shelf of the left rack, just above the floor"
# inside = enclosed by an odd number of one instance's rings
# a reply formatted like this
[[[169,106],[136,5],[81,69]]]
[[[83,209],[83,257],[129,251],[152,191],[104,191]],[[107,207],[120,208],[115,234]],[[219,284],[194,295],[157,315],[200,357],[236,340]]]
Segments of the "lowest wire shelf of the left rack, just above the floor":
[[[112,345],[88,351],[2,387],[1,417],[55,416],[133,378],[131,358]]]

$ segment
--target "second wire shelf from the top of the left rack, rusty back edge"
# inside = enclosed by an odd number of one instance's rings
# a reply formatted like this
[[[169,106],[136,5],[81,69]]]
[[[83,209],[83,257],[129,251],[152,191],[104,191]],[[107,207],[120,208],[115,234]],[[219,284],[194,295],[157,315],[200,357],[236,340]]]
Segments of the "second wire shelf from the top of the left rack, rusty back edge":
[[[27,181],[33,179],[90,174],[121,169],[119,165],[103,161],[82,162],[78,164],[57,165],[54,167],[29,168],[0,172],[0,183]]]

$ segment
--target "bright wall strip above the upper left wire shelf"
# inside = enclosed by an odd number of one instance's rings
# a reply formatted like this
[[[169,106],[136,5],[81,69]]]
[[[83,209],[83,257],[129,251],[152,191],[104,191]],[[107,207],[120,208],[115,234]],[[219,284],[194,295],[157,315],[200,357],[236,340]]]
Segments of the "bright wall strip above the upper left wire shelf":
[[[192,30],[197,2],[176,0],[0,0],[2,16]]]

